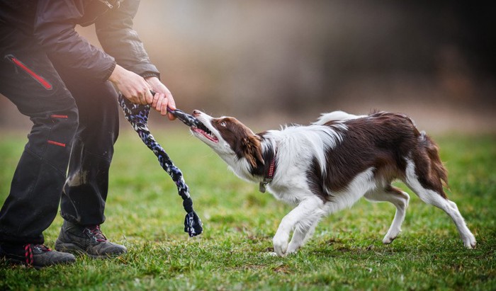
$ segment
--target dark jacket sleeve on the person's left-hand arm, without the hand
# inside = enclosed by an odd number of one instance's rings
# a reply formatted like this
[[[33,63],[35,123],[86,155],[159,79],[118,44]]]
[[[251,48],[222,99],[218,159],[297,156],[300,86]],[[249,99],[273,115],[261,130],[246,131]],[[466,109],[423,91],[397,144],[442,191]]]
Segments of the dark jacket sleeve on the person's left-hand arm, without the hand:
[[[47,54],[60,58],[67,67],[81,69],[86,77],[106,81],[115,68],[115,59],[74,30],[83,13],[83,1],[38,1],[35,39]]]

